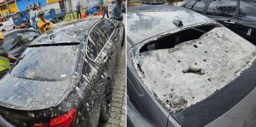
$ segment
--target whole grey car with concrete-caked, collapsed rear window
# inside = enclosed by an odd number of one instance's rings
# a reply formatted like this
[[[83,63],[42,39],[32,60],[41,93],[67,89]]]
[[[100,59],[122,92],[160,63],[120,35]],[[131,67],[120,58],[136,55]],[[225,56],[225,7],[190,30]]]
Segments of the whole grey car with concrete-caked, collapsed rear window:
[[[253,44],[197,12],[127,9],[127,126],[255,126],[255,59]]]

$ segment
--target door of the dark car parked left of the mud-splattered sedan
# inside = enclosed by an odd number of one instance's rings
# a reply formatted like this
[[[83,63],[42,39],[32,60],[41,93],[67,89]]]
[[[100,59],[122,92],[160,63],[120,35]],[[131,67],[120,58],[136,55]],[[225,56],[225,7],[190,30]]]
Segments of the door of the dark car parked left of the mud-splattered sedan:
[[[12,34],[12,36],[19,43],[14,48],[8,51],[14,57],[19,57],[20,54],[27,48],[27,46],[36,39],[40,34],[37,31],[33,30],[25,30],[25,31],[17,31]],[[11,40],[10,40],[11,41]]]

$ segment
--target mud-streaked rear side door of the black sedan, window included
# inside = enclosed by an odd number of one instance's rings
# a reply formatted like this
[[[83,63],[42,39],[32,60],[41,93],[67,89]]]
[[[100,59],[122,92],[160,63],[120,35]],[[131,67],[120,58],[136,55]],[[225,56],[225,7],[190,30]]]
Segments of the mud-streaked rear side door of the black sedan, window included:
[[[104,20],[99,21],[91,30],[86,53],[87,57],[99,64],[99,73],[107,73],[111,81],[115,74],[116,63],[116,46],[113,41],[110,41],[110,33],[104,30]]]

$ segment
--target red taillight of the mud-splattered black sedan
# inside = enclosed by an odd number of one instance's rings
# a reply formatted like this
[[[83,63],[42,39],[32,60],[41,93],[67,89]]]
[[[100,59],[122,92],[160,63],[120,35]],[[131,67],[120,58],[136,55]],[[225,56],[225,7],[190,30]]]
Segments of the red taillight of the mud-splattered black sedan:
[[[67,114],[51,119],[50,127],[72,127],[75,124],[77,109],[73,109]]]

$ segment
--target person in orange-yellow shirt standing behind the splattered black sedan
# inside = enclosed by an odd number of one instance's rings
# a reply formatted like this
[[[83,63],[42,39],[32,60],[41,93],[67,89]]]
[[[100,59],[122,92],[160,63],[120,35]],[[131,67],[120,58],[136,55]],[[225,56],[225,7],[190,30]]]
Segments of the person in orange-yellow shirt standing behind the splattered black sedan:
[[[39,11],[38,16],[40,18],[40,21],[37,23],[37,26],[40,29],[41,34],[53,28],[52,24],[50,23],[51,21],[44,19],[44,11]]]

